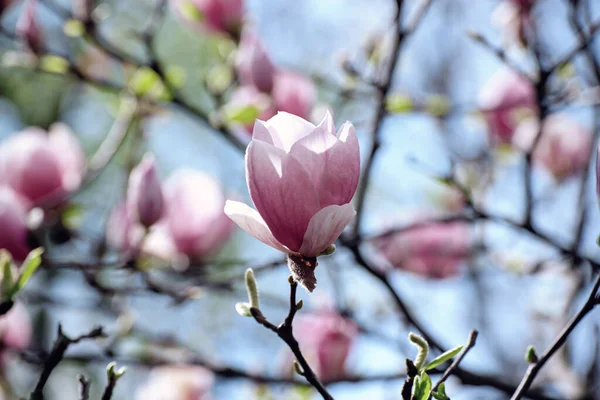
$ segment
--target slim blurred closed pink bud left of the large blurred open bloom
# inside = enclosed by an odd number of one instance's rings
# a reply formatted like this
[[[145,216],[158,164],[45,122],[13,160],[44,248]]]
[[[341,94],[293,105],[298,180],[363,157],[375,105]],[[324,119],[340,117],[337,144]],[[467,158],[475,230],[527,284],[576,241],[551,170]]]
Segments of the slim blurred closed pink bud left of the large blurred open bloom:
[[[149,227],[163,213],[163,193],[156,172],[154,157],[146,154],[129,174],[127,186],[128,213],[134,221]]]

